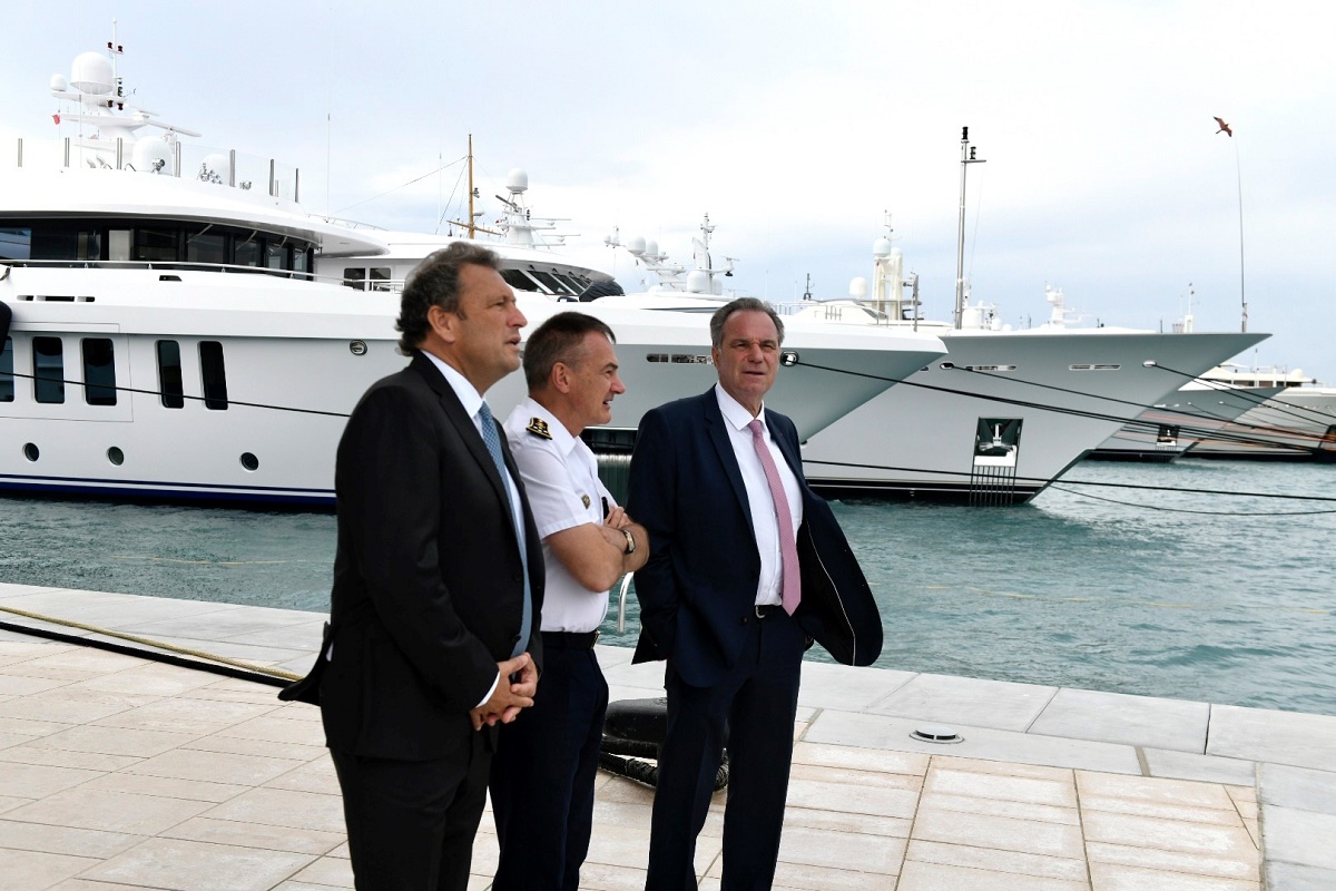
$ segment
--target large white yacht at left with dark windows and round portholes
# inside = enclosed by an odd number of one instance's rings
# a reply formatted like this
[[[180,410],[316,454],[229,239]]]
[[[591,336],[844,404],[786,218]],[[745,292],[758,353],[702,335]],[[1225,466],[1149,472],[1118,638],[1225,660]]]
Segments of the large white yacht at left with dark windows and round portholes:
[[[333,504],[346,414],[405,365],[398,299],[373,270],[394,279],[415,260],[307,214],[294,170],[187,146],[124,100],[115,56],[84,53],[51,87],[79,108],[59,115],[67,135],[0,162],[0,490]],[[530,326],[611,278],[490,246],[508,278],[569,282],[518,291]],[[617,333],[619,426],[713,382],[708,317],[595,306],[578,309]],[[943,351],[931,335],[795,326],[775,398],[812,435]],[[488,398],[504,415],[522,394],[513,374]]]

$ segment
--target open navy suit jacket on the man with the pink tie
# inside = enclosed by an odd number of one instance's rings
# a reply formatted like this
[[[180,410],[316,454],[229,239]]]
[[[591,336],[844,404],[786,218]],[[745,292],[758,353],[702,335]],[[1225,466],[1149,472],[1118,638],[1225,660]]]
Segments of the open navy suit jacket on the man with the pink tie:
[[[713,387],[647,413],[627,500],[651,548],[636,573],[636,661],[672,657],[697,687],[716,683],[736,663],[760,577],[747,489]],[[839,661],[870,664],[880,653],[882,624],[867,581],[830,506],[803,477],[794,422],[767,410],[766,425],[803,493],[803,602],[795,618]]]

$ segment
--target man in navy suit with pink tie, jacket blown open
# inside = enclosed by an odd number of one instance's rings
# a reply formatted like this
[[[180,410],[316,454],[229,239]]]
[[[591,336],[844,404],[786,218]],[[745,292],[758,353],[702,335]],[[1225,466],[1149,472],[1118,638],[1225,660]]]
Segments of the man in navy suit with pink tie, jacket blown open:
[[[725,741],[721,888],[771,887],[808,635],[842,661],[867,664],[880,649],[866,581],[803,478],[798,431],[764,407],[783,322],[768,303],[740,298],[709,329],[719,385],[645,414],[631,464],[627,509],[651,544],[636,573],[636,660],[668,660],[648,891],[696,888],[696,836]],[[836,570],[811,557],[800,565],[814,542]]]

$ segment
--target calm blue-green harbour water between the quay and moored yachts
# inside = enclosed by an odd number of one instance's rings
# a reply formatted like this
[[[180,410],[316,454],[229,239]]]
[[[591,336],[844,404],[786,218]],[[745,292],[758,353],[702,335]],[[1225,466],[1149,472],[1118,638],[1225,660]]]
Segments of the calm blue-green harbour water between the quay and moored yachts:
[[[1336,496],[1331,465],[1067,476]],[[1059,482],[1013,509],[835,510],[882,604],[882,667],[1336,715],[1336,502]],[[333,514],[0,498],[0,581],[329,606]],[[628,613],[605,643],[633,643]]]

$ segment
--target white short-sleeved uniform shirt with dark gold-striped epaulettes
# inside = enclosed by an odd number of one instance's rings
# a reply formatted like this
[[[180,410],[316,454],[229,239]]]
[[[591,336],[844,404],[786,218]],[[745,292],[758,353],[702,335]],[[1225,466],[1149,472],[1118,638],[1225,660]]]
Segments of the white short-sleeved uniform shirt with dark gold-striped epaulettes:
[[[506,418],[505,435],[540,538],[589,522],[601,524],[607,510],[617,506],[599,480],[599,462],[589,446],[532,398],[525,398]],[[542,560],[548,570],[542,631],[596,631],[608,613],[608,592],[589,590],[576,581],[546,541]]]

